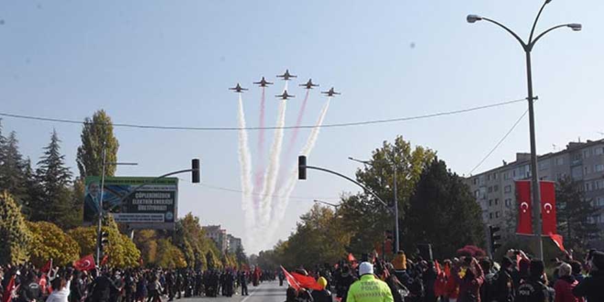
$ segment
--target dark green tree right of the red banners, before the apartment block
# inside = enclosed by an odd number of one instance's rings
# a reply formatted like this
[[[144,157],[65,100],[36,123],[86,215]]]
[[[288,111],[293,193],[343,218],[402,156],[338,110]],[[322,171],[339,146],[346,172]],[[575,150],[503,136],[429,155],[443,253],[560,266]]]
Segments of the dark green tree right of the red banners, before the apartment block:
[[[564,235],[564,245],[579,253],[585,252],[600,231],[592,217],[599,211],[592,200],[585,198],[581,183],[572,178],[561,179],[556,187],[558,231]]]

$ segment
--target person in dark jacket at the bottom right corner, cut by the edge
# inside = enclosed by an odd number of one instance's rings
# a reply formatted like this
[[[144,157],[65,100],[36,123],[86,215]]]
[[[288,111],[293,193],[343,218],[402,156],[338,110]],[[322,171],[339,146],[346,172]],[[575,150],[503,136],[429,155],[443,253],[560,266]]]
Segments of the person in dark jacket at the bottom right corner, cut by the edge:
[[[573,290],[575,297],[585,297],[588,301],[604,301],[604,253],[592,253],[590,277],[585,277]]]

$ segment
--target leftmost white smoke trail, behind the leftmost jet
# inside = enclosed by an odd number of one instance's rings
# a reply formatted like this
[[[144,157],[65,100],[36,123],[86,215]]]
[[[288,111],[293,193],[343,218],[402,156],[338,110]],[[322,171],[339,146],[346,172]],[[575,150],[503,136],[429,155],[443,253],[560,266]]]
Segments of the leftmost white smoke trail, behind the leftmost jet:
[[[243,100],[242,100],[242,94],[239,93],[239,110],[237,112],[237,121],[238,121],[238,126],[241,128],[239,130],[239,148],[238,148],[238,152],[239,152],[239,165],[241,167],[241,188],[242,188],[242,194],[241,194],[241,205],[242,205],[242,209],[244,211],[244,219],[245,219],[245,225],[246,225],[246,231],[247,231],[247,235],[246,237],[248,237],[248,240],[250,242],[255,242],[256,240],[253,240],[253,225],[254,225],[254,207],[253,207],[253,202],[252,202],[252,191],[253,191],[253,185],[252,185],[252,156],[250,153],[250,148],[248,146],[248,132],[245,129],[246,127],[246,122],[245,122],[245,113],[243,110]]]

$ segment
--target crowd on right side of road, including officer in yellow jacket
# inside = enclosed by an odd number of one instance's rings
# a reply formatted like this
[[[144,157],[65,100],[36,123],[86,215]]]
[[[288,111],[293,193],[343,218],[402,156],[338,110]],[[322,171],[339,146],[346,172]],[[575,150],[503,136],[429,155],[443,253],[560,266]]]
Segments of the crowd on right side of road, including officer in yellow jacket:
[[[288,288],[286,302],[327,302],[334,291],[342,302],[604,302],[604,253],[590,251],[583,262],[572,255],[555,259],[546,274],[541,259],[510,250],[499,262],[487,257],[454,257],[442,264],[403,252],[392,262],[362,257],[360,264],[342,260],[315,268],[310,275],[323,289]],[[331,296],[331,294],[329,294]]]

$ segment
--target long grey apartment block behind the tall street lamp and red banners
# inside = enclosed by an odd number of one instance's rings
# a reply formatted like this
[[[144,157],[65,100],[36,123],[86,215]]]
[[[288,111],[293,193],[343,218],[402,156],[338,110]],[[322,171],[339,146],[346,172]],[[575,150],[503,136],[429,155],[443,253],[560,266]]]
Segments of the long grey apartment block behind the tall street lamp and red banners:
[[[531,154],[517,153],[512,163],[465,178],[476,202],[483,209],[485,225],[501,228],[502,237],[515,234],[517,202],[514,181],[531,178]],[[566,149],[539,156],[538,176],[541,180],[558,181],[570,176],[579,182],[587,200],[604,208],[604,139],[570,142]],[[604,214],[592,218],[604,229]]]

